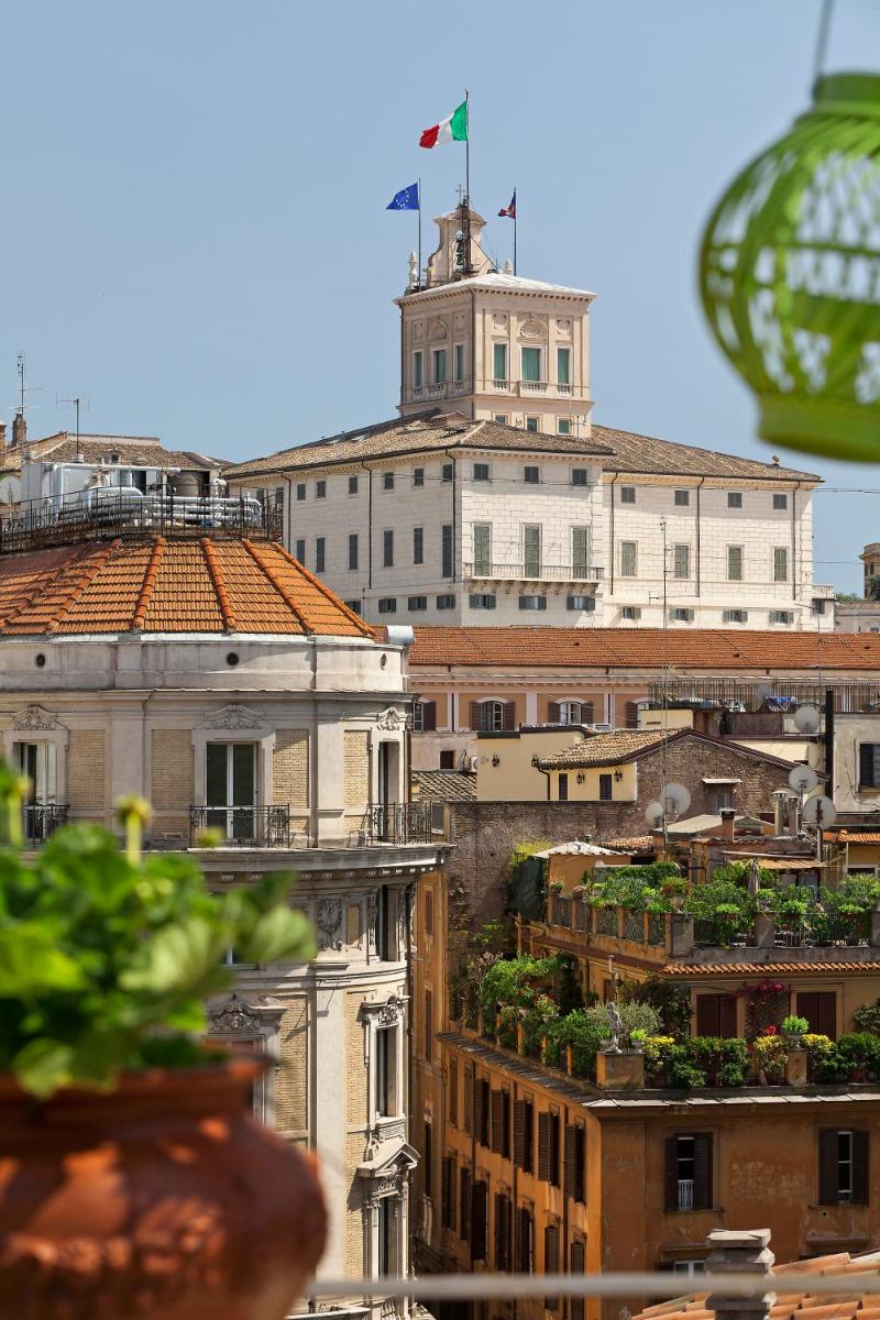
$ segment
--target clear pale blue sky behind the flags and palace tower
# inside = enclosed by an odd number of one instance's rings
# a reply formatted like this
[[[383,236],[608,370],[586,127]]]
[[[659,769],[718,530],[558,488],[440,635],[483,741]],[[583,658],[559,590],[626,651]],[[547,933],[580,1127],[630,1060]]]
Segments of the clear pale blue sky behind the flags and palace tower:
[[[747,388],[695,293],[708,211],[807,108],[819,0],[29,0],[3,18],[0,417],[244,459],[394,416],[397,310],[463,148],[499,261],[588,288],[594,421],[757,458]],[[880,7],[839,0],[826,69],[876,69]],[[879,438],[880,454],[880,438]],[[880,467],[826,479],[815,578],[860,589]],[[856,494],[851,494],[856,491]]]

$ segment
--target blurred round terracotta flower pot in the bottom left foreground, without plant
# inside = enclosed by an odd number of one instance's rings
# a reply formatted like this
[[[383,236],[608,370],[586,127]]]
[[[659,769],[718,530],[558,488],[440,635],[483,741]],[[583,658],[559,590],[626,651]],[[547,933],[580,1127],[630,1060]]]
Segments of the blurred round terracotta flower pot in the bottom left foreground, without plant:
[[[128,1073],[44,1104],[0,1077],[0,1315],[281,1320],[326,1210],[310,1159],[245,1111],[263,1067]]]

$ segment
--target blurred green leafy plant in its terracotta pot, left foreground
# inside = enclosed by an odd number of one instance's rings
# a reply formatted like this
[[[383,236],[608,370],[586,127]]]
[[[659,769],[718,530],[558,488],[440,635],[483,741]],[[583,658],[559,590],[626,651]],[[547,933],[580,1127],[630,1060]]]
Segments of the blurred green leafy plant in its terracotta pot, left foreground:
[[[263,1069],[206,1044],[204,999],[253,962],[313,953],[286,882],[214,896],[127,836],[59,829],[21,853],[0,770],[0,1313],[281,1320],[319,1258],[311,1162],[247,1114]]]

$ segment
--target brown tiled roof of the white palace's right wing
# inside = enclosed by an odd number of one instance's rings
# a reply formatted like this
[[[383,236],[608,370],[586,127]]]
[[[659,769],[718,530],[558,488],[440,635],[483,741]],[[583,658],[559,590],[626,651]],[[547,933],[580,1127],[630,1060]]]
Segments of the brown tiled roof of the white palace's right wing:
[[[616,426],[591,428],[592,440],[607,445],[615,454],[603,467],[619,473],[653,473],[676,477],[741,477],[744,480],[785,480],[821,482],[813,473],[801,473],[796,467],[781,467],[778,463],[761,463],[753,458],[739,458],[736,454],[719,454],[714,449],[697,449],[694,445],[678,445],[670,440],[657,440],[656,436],[640,436],[632,430],[617,430]]]

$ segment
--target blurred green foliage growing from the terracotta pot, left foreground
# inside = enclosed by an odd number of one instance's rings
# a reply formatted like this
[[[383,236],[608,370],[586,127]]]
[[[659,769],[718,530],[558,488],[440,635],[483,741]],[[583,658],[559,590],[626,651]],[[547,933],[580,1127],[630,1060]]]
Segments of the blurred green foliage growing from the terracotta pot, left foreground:
[[[204,1001],[232,985],[230,948],[259,964],[314,954],[289,876],[218,896],[190,859],[142,858],[140,800],[120,804],[124,853],[108,830],[66,825],[25,859],[25,789],[0,768],[0,1071],[34,1096],[202,1063]]]

